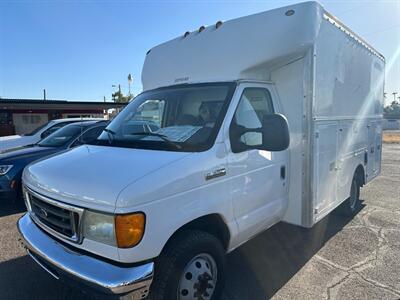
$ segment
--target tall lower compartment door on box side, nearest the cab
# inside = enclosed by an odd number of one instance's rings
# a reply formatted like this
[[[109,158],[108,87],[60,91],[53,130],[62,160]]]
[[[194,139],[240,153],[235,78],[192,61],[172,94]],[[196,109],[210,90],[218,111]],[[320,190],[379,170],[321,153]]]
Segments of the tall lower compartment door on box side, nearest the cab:
[[[316,126],[314,144],[314,212],[320,214],[337,200],[337,139],[336,122]]]

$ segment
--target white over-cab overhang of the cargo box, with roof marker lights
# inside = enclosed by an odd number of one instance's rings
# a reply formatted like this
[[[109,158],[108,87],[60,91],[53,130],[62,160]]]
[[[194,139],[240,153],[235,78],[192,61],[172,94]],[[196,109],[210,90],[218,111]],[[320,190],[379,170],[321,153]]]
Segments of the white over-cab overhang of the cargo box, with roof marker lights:
[[[285,16],[294,9],[295,14]],[[322,8],[302,3],[208,26],[152,48],[143,89],[179,83],[270,79],[275,65],[301,57],[314,44]]]

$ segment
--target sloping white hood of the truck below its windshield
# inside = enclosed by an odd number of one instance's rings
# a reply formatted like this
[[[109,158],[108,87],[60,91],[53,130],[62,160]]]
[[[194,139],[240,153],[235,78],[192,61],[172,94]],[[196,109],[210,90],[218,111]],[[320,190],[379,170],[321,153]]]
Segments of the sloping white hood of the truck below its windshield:
[[[187,155],[190,154],[85,145],[29,165],[23,180],[47,197],[114,212],[118,195],[125,187]]]

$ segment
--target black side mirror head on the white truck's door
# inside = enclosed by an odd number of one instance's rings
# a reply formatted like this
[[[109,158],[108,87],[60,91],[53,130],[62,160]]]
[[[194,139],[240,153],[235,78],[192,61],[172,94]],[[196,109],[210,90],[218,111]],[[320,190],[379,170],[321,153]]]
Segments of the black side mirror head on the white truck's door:
[[[281,114],[267,115],[262,128],[262,150],[283,151],[289,147],[289,125]]]

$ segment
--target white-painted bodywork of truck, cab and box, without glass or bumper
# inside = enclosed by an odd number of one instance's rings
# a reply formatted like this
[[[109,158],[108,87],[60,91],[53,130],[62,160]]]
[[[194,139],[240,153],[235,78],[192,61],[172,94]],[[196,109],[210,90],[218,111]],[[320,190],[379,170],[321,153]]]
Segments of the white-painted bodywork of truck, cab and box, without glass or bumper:
[[[121,262],[157,257],[179,228],[209,214],[229,230],[227,251],[281,220],[312,226],[348,197],[357,166],[366,181],[380,172],[384,60],[333,20],[307,2],[154,47],[145,91],[237,82],[214,145],[196,153],[82,146],[28,166],[24,184],[89,209],[144,212],[145,235],[131,249],[74,245]],[[288,150],[232,152],[229,126],[246,87],[267,89],[275,112],[287,117]],[[205,181],[221,167],[226,176]]]

